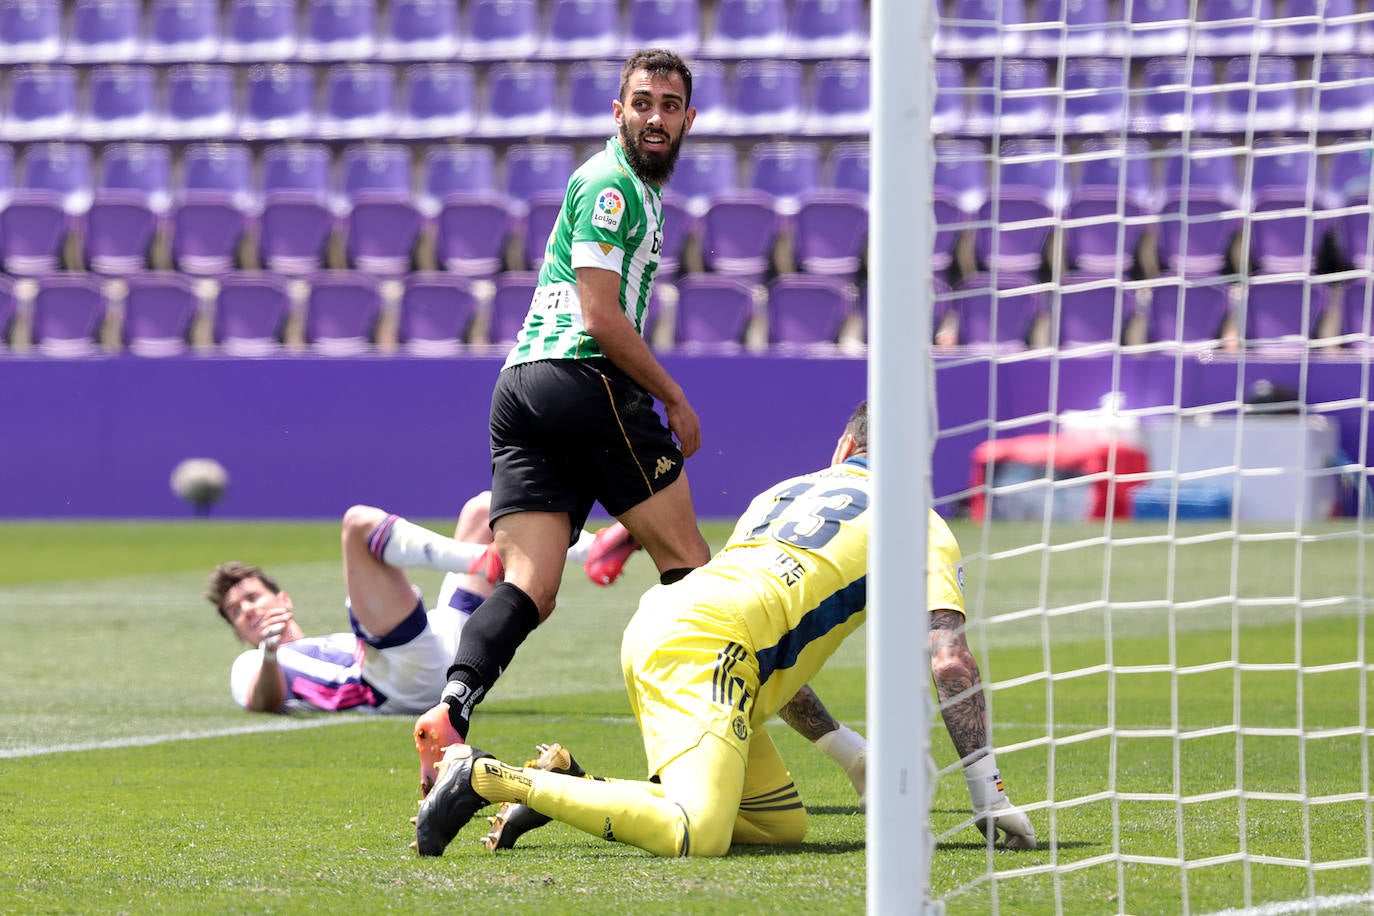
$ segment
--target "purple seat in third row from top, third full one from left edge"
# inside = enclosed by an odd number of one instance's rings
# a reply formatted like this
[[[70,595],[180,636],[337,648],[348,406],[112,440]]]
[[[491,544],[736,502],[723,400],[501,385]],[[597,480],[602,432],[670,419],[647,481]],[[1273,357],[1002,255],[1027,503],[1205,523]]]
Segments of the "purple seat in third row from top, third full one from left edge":
[[[187,147],[181,154],[180,194],[172,207],[172,260],[177,269],[199,276],[231,271],[253,205],[253,155],[246,146]]]

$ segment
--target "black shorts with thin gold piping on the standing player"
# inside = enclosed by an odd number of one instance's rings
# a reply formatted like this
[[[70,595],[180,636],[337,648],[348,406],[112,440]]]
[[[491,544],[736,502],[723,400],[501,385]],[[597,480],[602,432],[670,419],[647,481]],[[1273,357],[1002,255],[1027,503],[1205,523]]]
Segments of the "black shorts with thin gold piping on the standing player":
[[[541,360],[502,371],[492,393],[492,512],[621,515],[677,479],[683,453],[654,398],[610,360]]]

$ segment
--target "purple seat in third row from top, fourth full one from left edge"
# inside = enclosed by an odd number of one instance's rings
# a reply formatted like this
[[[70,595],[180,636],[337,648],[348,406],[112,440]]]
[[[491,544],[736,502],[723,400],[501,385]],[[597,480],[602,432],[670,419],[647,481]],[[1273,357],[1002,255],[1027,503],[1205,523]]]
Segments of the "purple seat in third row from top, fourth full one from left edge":
[[[258,246],[268,269],[304,275],[323,264],[334,231],[328,172],[330,152],[323,146],[264,150]]]

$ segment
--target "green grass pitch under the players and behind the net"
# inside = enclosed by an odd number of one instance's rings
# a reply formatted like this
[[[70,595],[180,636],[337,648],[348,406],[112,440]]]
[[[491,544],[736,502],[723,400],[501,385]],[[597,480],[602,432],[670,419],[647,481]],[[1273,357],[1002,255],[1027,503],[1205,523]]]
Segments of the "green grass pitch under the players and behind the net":
[[[719,544],[727,527],[706,533]],[[1307,898],[1323,913],[1370,912],[1370,567],[1353,527],[1301,542],[1139,537],[1112,551],[1092,530],[1057,529],[1047,549],[1026,551],[1011,548],[1037,544],[1039,526],[956,534],[970,643],[998,684],[1002,773],[1041,843],[989,854],[962,827],[967,792],[937,726],[930,872],[948,912],[1206,913]],[[308,633],[342,629],[337,525],[4,523],[0,555],[0,912],[864,908],[857,799],[780,722],[772,732],[812,816],[801,846],[658,860],[552,824],[492,856],[474,824],[442,858],[416,858],[411,720],[239,711],[228,694],[239,647],[201,597],[216,562],[258,562]],[[474,743],[521,759],[559,740],[592,772],[642,775],[617,659],[653,578],[642,556],[609,589],[569,570],[559,610],[480,710]],[[415,580],[427,593],[438,584]],[[1219,600],[1230,595],[1239,611]],[[861,729],[861,632],[815,685]],[[926,688],[914,678],[914,692]]]

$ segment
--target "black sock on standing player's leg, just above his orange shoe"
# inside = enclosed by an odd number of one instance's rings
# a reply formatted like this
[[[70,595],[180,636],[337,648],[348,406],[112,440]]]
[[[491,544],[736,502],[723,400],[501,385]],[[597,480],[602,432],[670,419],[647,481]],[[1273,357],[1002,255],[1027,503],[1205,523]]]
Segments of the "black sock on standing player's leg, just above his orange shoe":
[[[477,606],[463,625],[458,654],[448,669],[448,720],[467,740],[473,709],[482,702],[506,666],[515,658],[515,650],[539,626],[539,606],[510,582],[502,582],[486,600]]]

